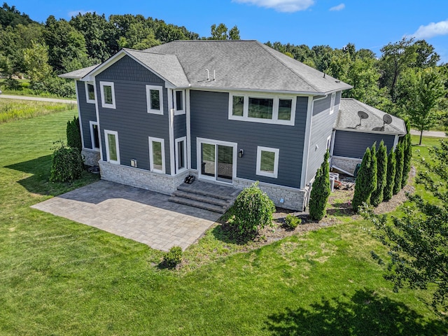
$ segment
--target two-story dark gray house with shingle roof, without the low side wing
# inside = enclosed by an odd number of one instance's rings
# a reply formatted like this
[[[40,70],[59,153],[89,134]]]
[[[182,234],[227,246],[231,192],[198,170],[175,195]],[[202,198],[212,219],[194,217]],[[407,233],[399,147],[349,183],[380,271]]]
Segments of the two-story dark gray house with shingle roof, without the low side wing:
[[[260,181],[304,209],[351,86],[258,41],[120,50],[76,80],[83,155],[102,179],[171,194],[186,176]]]

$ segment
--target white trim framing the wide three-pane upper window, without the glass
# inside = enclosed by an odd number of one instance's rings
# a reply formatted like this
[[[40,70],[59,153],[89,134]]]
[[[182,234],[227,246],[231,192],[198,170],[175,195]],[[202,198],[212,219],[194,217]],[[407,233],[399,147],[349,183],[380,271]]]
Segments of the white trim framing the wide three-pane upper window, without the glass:
[[[233,97],[239,96],[244,97],[244,106],[243,106],[243,116],[234,116],[232,114],[233,109]],[[263,99],[273,99],[272,106],[272,119],[262,119],[262,118],[251,118],[248,116],[249,109],[249,97],[250,98],[263,98]],[[279,120],[279,100],[280,99],[291,99],[291,118],[290,120]],[[297,96],[291,96],[288,94],[264,94],[260,93],[239,93],[239,92],[230,92],[229,94],[229,120],[241,120],[241,121],[249,121],[252,123],[264,123],[264,124],[276,124],[276,125],[290,125],[294,126],[295,123],[295,108],[297,103]]]

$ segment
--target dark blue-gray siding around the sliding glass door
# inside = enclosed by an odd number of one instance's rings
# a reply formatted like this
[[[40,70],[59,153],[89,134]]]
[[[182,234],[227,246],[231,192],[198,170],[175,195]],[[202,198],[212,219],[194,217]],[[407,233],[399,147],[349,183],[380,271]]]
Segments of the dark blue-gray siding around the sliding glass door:
[[[238,150],[244,150],[243,158],[237,158],[237,177],[300,188],[307,102],[307,97],[297,97],[294,126],[251,123],[228,120],[228,93],[191,90],[191,161],[193,169],[197,168],[197,137],[229,141],[237,143]],[[279,148],[277,179],[255,174],[257,146]]]

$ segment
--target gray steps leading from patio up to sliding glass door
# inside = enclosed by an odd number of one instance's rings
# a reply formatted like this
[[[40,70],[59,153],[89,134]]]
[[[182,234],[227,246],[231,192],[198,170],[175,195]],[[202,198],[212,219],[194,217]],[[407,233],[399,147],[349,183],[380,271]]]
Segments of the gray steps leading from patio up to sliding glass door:
[[[218,186],[212,183],[194,181],[192,184],[182,183],[172,193],[169,200],[179,204],[224,214],[235,202],[241,190]]]

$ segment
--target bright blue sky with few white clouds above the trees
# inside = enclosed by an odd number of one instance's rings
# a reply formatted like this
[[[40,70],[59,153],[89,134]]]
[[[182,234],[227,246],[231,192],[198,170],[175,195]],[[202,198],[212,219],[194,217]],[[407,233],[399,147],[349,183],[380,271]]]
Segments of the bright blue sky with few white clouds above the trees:
[[[330,45],[354,43],[380,55],[379,49],[403,36],[425,38],[448,62],[447,0],[16,0],[9,2],[31,19],[45,22],[49,15],[69,20],[87,11],[142,14],[185,26],[200,36],[210,26],[237,25],[242,39],[260,42]]]

